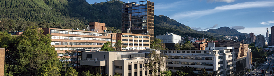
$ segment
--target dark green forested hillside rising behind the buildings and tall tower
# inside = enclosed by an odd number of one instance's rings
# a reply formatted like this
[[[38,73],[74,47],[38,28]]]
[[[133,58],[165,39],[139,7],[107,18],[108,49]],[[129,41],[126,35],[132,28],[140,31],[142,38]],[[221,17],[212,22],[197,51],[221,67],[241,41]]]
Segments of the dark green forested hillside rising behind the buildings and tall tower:
[[[89,22],[103,22],[111,29],[121,29],[122,1],[89,4],[85,0],[0,0],[1,31],[40,28],[86,29]],[[171,32],[181,36],[199,37],[218,34],[196,31],[167,16],[154,16],[155,35]]]

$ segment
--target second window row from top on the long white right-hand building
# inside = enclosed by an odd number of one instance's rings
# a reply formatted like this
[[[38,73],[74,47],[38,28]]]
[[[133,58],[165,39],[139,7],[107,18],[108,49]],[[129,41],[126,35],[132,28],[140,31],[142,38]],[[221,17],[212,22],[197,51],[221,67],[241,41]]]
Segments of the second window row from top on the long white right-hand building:
[[[213,60],[213,57],[187,57],[187,56],[171,56],[169,59],[197,59],[197,60]]]

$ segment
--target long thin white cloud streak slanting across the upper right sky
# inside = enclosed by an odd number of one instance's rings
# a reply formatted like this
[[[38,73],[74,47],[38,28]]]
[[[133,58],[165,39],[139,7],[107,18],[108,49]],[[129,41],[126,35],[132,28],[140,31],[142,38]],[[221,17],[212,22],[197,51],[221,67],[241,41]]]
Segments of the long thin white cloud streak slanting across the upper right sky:
[[[183,19],[187,17],[201,17],[201,16],[210,15],[210,14],[223,12],[227,10],[260,8],[260,7],[270,7],[270,6],[273,6],[273,1],[244,2],[244,3],[234,4],[234,5],[218,6],[218,7],[215,7],[214,9],[208,9],[208,10],[202,10],[202,11],[188,11],[188,12],[176,13],[170,18]]]

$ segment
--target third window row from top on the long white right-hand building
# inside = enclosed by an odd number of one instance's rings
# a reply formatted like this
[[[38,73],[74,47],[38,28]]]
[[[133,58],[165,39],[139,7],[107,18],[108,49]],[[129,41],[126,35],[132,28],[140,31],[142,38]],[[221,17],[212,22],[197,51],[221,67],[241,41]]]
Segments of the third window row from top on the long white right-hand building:
[[[213,66],[213,63],[206,63],[206,62],[184,62],[184,61],[170,61],[166,64],[183,64],[183,65],[208,65]]]

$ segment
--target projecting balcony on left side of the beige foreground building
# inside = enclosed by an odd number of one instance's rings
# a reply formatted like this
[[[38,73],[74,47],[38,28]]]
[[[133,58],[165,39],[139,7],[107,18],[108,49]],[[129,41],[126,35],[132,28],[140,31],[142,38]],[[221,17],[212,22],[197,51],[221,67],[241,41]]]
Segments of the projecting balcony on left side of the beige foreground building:
[[[80,65],[106,66],[106,60],[80,60]]]

